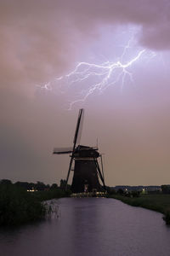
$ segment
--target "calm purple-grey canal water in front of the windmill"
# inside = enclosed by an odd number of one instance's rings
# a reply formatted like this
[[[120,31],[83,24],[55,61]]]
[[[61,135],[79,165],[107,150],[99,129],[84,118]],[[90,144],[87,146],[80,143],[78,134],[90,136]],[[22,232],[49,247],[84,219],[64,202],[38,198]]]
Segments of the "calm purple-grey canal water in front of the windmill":
[[[170,227],[161,213],[106,198],[54,201],[52,218],[0,230],[2,256],[170,255]]]

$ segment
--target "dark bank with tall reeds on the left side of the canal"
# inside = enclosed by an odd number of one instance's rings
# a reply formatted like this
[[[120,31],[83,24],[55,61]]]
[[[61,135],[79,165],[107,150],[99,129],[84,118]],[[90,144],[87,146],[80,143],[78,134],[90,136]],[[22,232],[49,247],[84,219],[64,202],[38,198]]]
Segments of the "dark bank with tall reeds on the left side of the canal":
[[[27,192],[15,184],[0,184],[0,225],[12,226],[41,220],[47,207],[42,201],[65,196],[60,189]]]

